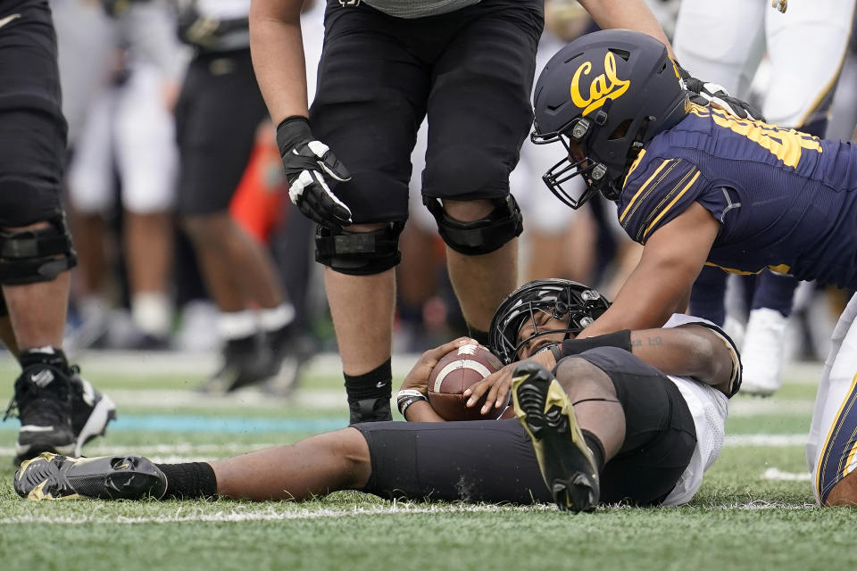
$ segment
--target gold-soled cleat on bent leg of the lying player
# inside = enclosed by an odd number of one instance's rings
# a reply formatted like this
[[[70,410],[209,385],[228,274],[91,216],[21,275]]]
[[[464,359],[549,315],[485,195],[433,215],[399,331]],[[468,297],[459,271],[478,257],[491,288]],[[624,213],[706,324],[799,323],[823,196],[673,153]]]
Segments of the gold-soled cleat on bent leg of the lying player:
[[[537,362],[522,362],[512,373],[512,402],[556,505],[575,513],[595,509],[599,495],[595,460],[571,401],[551,372]]]

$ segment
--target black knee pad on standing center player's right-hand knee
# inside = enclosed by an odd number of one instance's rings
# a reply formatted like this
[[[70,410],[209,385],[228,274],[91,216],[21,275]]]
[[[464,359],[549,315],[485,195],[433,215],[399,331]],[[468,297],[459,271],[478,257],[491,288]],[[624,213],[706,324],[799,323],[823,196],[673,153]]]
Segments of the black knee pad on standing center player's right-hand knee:
[[[446,245],[466,256],[499,250],[524,229],[520,208],[512,194],[495,199],[495,209],[487,217],[472,222],[450,217],[437,198],[424,196],[422,202],[437,220],[437,230]]]

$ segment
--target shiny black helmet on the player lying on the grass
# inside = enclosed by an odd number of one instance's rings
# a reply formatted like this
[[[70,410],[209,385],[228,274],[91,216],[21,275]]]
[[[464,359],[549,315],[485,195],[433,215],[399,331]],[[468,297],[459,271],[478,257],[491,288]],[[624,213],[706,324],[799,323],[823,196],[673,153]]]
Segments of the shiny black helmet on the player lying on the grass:
[[[518,360],[520,348],[529,341],[556,333],[556,329],[539,330],[535,319],[538,312],[564,319],[567,325],[563,338],[568,339],[598,319],[608,307],[610,302],[602,294],[570,279],[531,281],[512,292],[495,311],[489,330],[491,349],[503,365],[508,365]],[[519,340],[520,329],[528,320],[532,322],[534,333]]]

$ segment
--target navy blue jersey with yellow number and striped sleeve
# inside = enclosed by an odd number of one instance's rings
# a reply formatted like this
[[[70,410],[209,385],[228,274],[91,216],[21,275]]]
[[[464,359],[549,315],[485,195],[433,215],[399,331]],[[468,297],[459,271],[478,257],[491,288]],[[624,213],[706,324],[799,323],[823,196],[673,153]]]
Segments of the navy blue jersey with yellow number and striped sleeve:
[[[697,202],[720,220],[708,264],[857,288],[857,148],[688,104],[628,171],[628,236],[645,244]]]

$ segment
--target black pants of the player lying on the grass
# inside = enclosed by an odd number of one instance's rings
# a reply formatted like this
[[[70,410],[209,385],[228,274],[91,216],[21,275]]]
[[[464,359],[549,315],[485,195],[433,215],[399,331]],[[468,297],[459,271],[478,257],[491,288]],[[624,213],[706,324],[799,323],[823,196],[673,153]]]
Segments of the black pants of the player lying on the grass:
[[[625,410],[625,443],[603,469],[601,501],[660,503],[696,446],[684,398],[670,379],[628,352],[600,348],[580,356],[612,377]],[[369,444],[372,474],[365,492],[387,499],[553,501],[516,419],[377,422],[354,428]]]

